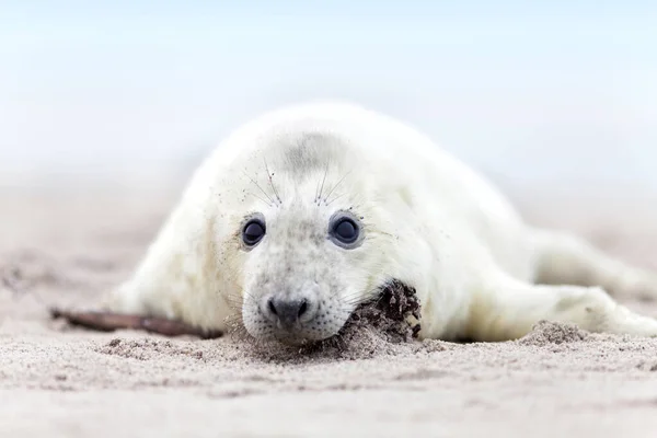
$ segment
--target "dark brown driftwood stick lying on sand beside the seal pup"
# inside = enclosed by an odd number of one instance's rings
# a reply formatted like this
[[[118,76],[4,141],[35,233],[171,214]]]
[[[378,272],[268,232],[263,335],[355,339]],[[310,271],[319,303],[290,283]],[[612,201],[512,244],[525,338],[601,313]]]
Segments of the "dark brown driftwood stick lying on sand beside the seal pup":
[[[192,335],[203,339],[214,339],[222,335],[218,331],[204,331],[184,322],[165,318],[142,316],[101,311],[69,311],[57,308],[50,309],[50,318],[62,319],[71,325],[77,325],[99,332],[116,330],[141,330],[163,336]]]

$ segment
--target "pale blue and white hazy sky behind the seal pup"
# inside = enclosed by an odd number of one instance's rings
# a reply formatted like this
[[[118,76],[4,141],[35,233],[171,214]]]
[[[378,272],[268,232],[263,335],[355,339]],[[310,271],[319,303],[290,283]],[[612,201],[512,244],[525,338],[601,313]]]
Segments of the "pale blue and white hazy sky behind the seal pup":
[[[518,184],[657,191],[657,3],[532,3],[0,0],[0,172],[157,171],[339,97]]]

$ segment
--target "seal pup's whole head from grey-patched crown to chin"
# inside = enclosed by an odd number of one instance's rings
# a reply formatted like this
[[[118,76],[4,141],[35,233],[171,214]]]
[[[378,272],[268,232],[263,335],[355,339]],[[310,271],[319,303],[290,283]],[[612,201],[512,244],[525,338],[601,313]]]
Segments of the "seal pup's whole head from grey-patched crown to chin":
[[[383,283],[380,203],[335,140],[306,138],[268,160],[275,176],[249,176],[260,196],[234,226],[242,322],[258,339],[325,339]]]

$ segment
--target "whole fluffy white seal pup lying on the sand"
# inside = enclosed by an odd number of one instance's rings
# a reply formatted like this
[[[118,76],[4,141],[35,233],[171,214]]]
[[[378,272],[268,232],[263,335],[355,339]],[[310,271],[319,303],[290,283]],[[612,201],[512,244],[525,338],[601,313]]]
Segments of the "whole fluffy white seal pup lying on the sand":
[[[299,343],[338,332],[392,279],[416,289],[419,337],[504,341],[541,320],[657,335],[611,298],[654,273],[535,229],[410,126],[345,103],[268,113],[196,171],[110,310]]]

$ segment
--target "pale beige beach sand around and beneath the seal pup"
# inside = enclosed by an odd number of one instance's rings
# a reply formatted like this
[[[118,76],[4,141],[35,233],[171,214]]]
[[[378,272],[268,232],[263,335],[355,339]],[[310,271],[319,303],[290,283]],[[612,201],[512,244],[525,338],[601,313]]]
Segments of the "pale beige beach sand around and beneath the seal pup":
[[[301,357],[48,320],[47,306],[91,307],[125,279],[176,195],[0,191],[1,437],[657,435],[657,339],[540,324],[499,344],[365,333],[348,354]],[[537,201],[532,221],[657,268],[657,211]]]

